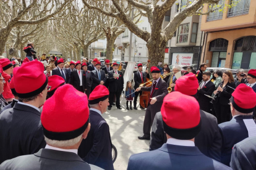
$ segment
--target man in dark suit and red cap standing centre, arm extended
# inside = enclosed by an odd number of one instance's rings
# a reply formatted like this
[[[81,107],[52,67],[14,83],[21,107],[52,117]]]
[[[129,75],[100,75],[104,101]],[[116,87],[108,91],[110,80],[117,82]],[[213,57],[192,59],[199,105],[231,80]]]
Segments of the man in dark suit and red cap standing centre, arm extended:
[[[136,89],[139,91],[150,91],[150,99],[148,107],[145,113],[145,119],[143,123],[143,136],[139,136],[139,139],[150,140],[150,129],[153,124],[153,120],[158,111],[161,110],[161,105],[163,104],[163,99],[168,94],[167,84],[161,79],[160,70],[157,67],[150,68],[152,77],[154,81],[151,87],[138,87]]]

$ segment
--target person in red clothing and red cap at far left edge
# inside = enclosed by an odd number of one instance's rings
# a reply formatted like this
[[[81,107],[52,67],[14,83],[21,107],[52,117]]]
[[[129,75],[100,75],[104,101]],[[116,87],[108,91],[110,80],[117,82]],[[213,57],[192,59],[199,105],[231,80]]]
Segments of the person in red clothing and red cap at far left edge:
[[[10,89],[9,79],[11,79],[11,75],[14,71],[14,65],[10,62],[9,59],[0,59],[0,65],[2,66],[2,76],[4,77],[4,92],[2,92],[2,96],[6,99],[7,102],[11,102],[14,99],[14,95]]]

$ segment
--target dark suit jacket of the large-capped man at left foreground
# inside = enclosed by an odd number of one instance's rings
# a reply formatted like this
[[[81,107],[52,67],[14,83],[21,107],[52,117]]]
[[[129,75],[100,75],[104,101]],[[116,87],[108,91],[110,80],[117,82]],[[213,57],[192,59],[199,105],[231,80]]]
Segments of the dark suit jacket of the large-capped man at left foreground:
[[[0,115],[0,163],[45,148],[45,137],[35,108],[15,103]]]

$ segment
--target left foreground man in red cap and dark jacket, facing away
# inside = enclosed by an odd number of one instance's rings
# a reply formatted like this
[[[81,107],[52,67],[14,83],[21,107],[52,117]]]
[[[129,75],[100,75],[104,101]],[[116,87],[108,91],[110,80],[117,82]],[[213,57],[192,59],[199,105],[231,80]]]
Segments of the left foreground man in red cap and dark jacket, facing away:
[[[38,61],[17,68],[14,84],[19,102],[0,116],[0,163],[45,147],[39,110],[49,89],[44,70]]]

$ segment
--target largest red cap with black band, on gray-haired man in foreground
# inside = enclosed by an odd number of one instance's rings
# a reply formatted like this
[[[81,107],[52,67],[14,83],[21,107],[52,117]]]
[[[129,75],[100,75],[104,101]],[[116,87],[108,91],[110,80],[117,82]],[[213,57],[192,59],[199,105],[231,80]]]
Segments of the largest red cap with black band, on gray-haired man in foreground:
[[[75,139],[87,128],[88,118],[87,95],[70,84],[65,84],[43,106],[43,133],[51,140]]]

